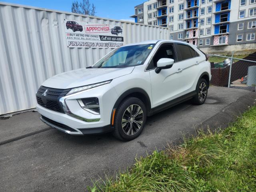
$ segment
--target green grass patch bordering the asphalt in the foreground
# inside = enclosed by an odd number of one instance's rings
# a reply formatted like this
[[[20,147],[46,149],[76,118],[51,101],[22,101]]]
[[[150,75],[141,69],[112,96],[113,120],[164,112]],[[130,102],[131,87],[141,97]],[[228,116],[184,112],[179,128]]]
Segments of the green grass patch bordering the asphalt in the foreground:
[[[104,192],[256,191],[256,107],[218,133],[136,159],[130,170],[88,187]]]

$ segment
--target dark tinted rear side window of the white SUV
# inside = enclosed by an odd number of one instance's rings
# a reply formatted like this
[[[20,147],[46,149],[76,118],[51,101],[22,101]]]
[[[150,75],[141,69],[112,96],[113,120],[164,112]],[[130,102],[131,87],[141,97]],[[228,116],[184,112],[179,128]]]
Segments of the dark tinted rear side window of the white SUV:
[[[184,44],[175,44],[178,61],[183,61],[193,57],[199,56],[199,54],[190,46]]]

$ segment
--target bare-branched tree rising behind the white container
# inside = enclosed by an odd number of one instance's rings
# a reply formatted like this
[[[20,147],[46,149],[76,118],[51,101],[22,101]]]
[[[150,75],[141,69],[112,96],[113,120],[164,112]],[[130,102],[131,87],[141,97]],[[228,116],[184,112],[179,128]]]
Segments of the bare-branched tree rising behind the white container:
[[[72,2],[71,11],[72,13],[84,14],[84,15],[92,15],[96,14],[96,7],[94,4],[90,4],[89,0],[82,0],[78,2],[77,0]]]

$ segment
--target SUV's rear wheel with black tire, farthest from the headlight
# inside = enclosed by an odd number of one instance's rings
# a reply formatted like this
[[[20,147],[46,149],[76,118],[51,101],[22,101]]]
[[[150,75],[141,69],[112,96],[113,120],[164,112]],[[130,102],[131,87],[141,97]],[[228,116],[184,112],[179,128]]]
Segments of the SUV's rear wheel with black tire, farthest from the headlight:
[[[205,79],[200,79],[196,85],[196,96],[192,99],[192,102],[196,105],[204,104],[208,94],[208,83]]]

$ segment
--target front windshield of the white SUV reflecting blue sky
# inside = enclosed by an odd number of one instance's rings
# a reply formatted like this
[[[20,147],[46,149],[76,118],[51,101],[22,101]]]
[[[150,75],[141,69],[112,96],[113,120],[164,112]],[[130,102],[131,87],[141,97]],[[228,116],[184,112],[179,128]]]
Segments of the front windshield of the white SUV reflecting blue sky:
[[[99,60],[92,68],[122,68],[141,65],[155,44],[141,44],[117,48]]]

